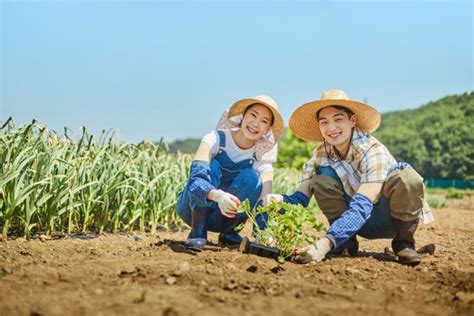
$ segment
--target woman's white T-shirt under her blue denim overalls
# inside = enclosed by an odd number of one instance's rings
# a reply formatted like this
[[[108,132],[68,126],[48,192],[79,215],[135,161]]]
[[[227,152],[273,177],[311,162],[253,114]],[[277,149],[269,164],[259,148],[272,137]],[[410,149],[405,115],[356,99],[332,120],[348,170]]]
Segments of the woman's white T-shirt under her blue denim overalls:
[[[273,171],[272,163],[265,160],[256,160],[255,159],[255,146],[249,149],[242,149],[234,142],[230,130],[222,130],[225,134],[225,146],[224,151],[229,156],[230,160],[237,163],[245,159],[252,159],[255,162],[252,165],[252,169],[257,171],[260,176],[267,172]],[[211,157],[217,155],[219,151],[219,142],[220,137],[217,131],[212,131],[206,136],[204,136],[201,142],[206,143],[211,147]]]

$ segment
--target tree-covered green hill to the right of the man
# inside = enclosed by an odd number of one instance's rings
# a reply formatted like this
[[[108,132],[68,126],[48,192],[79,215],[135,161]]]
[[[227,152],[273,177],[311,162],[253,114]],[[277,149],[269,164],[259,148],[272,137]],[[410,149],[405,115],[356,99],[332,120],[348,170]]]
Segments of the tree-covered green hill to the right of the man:
[[[425,178],[466,179],[474,174],[473,126],[474,92],[470,92],[386,113],[374,136]]]

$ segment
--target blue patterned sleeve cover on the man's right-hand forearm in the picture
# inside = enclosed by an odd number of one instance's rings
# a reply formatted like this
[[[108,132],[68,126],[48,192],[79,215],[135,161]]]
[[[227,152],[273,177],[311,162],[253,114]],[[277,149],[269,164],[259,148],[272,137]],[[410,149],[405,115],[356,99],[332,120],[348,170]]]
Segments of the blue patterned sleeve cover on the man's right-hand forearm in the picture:
[[[368,197],[356,193],[349,202],[349,208],[335,220],[327,231],[326,237],[334,248],[348,241],[370,218],[374,204]]]

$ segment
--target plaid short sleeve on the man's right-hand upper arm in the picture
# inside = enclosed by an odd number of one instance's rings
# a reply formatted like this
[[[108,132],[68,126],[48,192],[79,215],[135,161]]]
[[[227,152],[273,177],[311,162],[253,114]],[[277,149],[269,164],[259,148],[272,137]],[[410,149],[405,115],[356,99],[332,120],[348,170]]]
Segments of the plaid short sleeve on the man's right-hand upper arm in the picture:
[[[360,163],[360,182],[384,182],[392,163],[392,156],[384,146],[372,146]]]

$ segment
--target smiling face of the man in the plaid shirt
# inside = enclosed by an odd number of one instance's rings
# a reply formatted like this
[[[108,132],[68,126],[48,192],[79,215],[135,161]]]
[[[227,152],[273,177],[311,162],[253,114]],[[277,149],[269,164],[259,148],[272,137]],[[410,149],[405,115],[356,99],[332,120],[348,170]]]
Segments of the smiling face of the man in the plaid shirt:
[[[351,141],[352,128],[356,124],[356,117],[332,106],[319,112],[319,130],[326,142],[337,149],[344,148]]]

